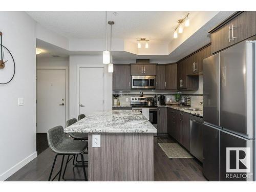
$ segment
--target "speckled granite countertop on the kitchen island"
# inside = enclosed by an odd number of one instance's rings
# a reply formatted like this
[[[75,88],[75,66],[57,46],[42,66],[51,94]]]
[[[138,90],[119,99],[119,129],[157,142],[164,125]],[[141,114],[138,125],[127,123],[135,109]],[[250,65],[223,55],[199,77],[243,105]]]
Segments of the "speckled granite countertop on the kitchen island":
[[[64,129],[65,133],[157,133],[137,110],[96,112]]]

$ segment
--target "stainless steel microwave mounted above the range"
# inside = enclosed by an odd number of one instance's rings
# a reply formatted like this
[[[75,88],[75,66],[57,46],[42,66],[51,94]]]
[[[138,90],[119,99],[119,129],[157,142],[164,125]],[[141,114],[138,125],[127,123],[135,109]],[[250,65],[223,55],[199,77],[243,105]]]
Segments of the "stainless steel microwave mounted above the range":
[[[132,89],[155,89],[155,75],[132,75]]]

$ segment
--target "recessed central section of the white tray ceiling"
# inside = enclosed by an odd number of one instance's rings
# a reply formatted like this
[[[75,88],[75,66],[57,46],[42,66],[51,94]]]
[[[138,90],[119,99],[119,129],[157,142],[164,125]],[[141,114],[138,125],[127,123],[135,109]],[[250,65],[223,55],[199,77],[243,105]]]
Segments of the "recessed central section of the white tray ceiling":
[[[108,11],[108,20],[114,20],[115,38],[136,39],[140,37],[156,41],[173,38],[177,20],[187,11]],[[105,38],[104,11],[28,11],[40,25],[67,38]],[[194,13],[190,12],[190,17]],[[109,27],[109,26],[108,26]]]

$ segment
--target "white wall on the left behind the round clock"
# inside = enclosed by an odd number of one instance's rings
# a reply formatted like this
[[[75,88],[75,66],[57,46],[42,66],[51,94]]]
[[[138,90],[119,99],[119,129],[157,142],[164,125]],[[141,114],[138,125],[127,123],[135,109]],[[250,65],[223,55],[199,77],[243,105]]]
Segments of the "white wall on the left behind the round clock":
[[[0,181],[36,157],[36,23],[25,12],[0,11],[3,45],[16,63],[14,79],[0,84]],[[6,75],[1,70],[1,75]],[[1,79],[1,78],[0,78]],[[24,98],[24,106],[17,106]]]

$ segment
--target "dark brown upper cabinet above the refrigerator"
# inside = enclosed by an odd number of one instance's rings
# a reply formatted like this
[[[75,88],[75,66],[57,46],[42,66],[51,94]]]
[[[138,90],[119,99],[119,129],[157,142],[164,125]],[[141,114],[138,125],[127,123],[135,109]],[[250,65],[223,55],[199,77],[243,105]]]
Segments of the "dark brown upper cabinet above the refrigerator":
[[[256,11],[238,11],[209,33],[211,33],[212,53],[252,37],[256,35]]]

